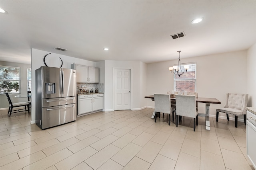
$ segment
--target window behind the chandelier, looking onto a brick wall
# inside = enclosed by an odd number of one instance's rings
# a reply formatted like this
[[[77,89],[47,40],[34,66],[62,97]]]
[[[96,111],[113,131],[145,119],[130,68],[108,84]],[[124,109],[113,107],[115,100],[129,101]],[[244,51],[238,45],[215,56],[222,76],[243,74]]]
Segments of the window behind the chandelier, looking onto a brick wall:
[[[189,65],[187,72],[180,77],[174,74],[174,91],[196,92],[196,63],[182,64],[182,70],[185,70],[184,65]]]

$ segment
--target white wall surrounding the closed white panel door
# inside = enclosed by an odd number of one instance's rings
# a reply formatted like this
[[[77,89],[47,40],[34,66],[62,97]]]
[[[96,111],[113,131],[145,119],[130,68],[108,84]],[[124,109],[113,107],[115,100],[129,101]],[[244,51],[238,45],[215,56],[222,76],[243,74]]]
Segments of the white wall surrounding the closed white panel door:
[[[139,110],[144,108],[146,105],[142,105],[141,101],[145,100],[146,90],[141,91],[142,86],[146,87],[146,64],[138,61],[105,61],[105,100],[104,111],[114,110],[114,96],[113,96],[113,69],[114,68],[130,68],[131,72],[131,106],[132,110]],[[142,70],[143,71],[142,71]],[[142,82],[144,80],[145,82]],[[145,103],[146,104],[146,103]]]

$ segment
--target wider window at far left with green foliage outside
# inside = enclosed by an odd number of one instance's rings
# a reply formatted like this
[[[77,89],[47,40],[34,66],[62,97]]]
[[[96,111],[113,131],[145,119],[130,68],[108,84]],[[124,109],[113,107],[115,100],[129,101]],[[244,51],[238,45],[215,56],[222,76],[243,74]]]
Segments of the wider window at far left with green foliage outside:
[[[20,67],[0,66],[0,94],[20,93]]]

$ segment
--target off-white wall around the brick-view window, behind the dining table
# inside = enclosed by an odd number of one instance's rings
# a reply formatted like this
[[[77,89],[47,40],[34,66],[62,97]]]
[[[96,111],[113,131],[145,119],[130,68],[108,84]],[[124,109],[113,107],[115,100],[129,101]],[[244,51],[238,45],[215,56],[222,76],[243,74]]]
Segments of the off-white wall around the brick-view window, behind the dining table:
[[[221,104],[211,104],[210,115],[216,117],[216,108],[225,104],[226,93],[247,93],[247,51],[236,51],[216,55],[200,56],[183,59],[182,63],[196,62],[196,92],[198,97],[217,98]],[[169,66],[177,60],[148,64],[147,95],[164,93],[173,90],[173,73]],[[186,73],[185,73],[186,74]],[[147,106],[154,107],[148,99]],[[200,113],[205,113],[205,105],[198,104]],[[220,118],[224,114],[220,113]],[[230,116],[232,117],[232,116]],[[242,118],[242,117],[239,117]],[[243,119],[243,118],[242,118]]]

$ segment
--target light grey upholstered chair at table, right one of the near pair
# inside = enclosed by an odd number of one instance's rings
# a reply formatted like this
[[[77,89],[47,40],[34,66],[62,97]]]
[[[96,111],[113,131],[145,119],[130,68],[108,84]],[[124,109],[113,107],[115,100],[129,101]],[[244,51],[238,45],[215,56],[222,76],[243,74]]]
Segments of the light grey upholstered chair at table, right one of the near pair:
[[[178,127],[178,116],[194,118],[194,131],[198,125],[198,111],[196,110],[196,96],[179,95],[176,98],[176,127]]]

